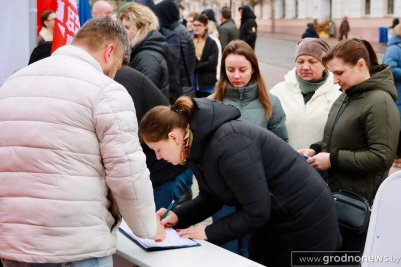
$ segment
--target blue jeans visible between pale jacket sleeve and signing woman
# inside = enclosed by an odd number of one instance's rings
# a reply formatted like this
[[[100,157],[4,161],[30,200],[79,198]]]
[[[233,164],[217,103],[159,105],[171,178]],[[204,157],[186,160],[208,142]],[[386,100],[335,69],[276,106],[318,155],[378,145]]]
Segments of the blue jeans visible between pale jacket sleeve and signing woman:
[[[168,181],[153,188],[153,196],[156,210],[159,210],[160,208],[167,208],[173,199],[175,200],[175,202],[171,209],[177,207],[178,199],[181,197],[182,192],[188,185],[186,177],[189,176],[189,174],[192,184],[192,171],[190,169],[187,169],[180,175],[175,177],[174,180]]]

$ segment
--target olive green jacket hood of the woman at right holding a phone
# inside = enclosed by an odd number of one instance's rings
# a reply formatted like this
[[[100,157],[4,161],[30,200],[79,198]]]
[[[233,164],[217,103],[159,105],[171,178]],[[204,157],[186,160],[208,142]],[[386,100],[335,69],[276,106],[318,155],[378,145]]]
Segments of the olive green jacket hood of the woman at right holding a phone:
[[[360,84],[351,86],[345,91],[345,93],[351,95],[371,90],[381,90],[390,94],[394,101],[397,100],[397,89],[394,85],[394,79],[392,78],[390,66],[374,66],[372,67],[370,75],[371,76],[369,79]]]

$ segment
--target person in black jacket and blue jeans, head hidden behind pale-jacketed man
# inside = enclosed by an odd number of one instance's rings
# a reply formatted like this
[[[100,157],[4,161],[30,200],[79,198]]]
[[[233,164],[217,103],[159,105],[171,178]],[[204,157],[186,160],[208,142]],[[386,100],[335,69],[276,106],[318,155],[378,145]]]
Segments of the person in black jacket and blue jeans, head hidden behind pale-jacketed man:
[[[128,66],[123,66],[117,72],[114,80],[123,85],[132,97],[138,124],[145,113],[153,107],[169,104],[167,98],[148,78]],[[183,187],[177,177],[187,167],[174,166],[164,160],[157,160],[153,150],[145,143],[142,143],[141,146],[146,155],[146,166],[150,171],[156,210],[160,207],[167,207],[172,200],[171,196],[177,202]]]

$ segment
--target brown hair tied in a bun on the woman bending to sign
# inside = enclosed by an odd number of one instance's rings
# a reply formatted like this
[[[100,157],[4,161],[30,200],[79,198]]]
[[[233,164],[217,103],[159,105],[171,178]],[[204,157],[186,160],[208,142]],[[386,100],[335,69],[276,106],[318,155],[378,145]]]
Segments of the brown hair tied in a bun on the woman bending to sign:
[[[193,114],[190,97],[179,97],[173,106],[157,106],[143,116],[139,124],[139,135],[147,142],[158,142],[168,138],[174,128],[186,129]]]

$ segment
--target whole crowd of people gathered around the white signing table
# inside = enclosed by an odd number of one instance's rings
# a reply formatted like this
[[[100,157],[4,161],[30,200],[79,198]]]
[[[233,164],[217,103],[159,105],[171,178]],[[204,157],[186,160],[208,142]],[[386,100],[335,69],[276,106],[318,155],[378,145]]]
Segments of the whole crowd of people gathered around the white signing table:
[[[385,65],[365,40],[305,37],[268,91],[256,16],[239,11],[238,28],[229,8],[218,24],[213,10],[138,0],[113,20],[100,0],[51,57],[43,13],[29,66],[0,90],[5,267],[112,266],[121,218],[139,237],[173,226],[267,266],[363,252],[366,229],[339,225],[332,192],[372,205],[401,156],[401,25]]]

